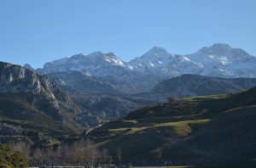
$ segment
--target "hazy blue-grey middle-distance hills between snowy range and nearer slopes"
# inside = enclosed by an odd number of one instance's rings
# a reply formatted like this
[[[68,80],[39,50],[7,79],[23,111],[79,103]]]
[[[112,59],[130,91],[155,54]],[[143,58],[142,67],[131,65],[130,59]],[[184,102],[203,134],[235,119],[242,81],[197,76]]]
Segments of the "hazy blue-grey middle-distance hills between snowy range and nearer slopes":
[[[162,81],[151,92],[136,93],[137,90],[124,81],[113,77],[86,76],[79,71],[48,74],[58,81],[84,109],[97,115],[101,120],[116,120],[131,110],[149,104],[166,102],[175,98],[237,92],[256,86],[250,78],[224,79],[198,75],[183,75]]]

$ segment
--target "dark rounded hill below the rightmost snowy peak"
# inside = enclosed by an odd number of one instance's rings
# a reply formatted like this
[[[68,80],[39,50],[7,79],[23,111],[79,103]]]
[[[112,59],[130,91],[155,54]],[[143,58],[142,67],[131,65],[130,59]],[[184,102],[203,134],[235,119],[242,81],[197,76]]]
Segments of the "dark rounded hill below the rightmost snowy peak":
[[[255,86],[256,79],[253,78],[227,79],[188,74],[161,81],[151,92],[165,98],[185,98],[238,92]]]

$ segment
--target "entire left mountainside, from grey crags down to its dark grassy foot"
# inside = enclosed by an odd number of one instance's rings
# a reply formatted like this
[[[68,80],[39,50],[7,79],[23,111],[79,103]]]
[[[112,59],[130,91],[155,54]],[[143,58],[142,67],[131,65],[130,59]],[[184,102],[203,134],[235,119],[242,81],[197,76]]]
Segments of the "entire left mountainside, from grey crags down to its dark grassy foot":
[[[48,76],[3,62],[0,62],[0,120],[13,131],[21,129],[17,135],[41,132],[44,137],[74,134],[81,127],[96,124],[94,117],[74,104]]]

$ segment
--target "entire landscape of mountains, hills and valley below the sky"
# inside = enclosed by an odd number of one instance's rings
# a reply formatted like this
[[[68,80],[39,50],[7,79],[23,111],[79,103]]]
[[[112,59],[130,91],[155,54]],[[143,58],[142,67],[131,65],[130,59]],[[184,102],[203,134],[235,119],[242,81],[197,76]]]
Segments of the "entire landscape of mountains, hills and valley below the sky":
[[[31,165],[254,164],[255,65],[220,43],[130,62],[102,52],[42,69],[0,62],[0,142]]]

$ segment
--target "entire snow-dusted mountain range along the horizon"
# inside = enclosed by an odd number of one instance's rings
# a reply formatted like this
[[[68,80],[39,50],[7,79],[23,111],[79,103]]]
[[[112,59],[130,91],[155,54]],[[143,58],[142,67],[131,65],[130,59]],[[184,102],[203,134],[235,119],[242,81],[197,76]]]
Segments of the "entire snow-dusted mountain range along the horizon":
[[[26,67],[32,70],[29,64]],[[187,55],[168,53],[154,47],[141,57],[124,62],[114,53],[76,54],[37,69],[39,74],[76,70],[87,76],[112,76],[145,92],[159,81],[183,74],[216,77],[255,77],[256,57],[240,48],[216,43]]]

